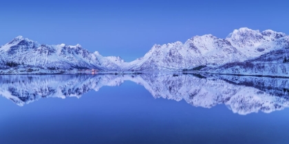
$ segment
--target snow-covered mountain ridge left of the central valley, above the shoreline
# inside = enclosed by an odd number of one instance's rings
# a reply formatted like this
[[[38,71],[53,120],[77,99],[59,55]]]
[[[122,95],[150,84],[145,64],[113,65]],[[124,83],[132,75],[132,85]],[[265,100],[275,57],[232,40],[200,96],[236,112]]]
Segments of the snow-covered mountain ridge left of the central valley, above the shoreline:
[[[7,62],[25,64],[31,67],[50,69],[119,69],[116,57],[103,57],[97,51],[90,53],[81,45],[40,45],[37,42],[17,36],[10,43],[0,47],[2,67]]]

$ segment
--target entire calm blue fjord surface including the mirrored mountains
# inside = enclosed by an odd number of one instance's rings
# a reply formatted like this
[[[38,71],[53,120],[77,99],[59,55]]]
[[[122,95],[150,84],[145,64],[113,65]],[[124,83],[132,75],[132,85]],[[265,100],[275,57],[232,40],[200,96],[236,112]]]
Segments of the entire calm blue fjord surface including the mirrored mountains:
[[[0,143],[288,143],[272,77],[0,75]]]

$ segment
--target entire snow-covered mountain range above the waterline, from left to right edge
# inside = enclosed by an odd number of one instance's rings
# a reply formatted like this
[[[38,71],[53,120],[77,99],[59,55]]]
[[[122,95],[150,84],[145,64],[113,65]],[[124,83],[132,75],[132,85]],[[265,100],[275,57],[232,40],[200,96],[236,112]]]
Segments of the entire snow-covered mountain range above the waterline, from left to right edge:
[[[177,41],[153,45],[142,58],[125,62],[120,57],[101,56],[98,51],[89,52],[81,45],[41,45],[28,38],[17,36],[0,47],[0,72],[28,73],[28,68],[31,69],[29,72],[34,73],[54,73],[55,70],[69,73],[75,69],[182,71],[206,66],[203,69],[205,72],[242,73],[244,71],[240,69],[242,66],[246,67],[248,63],[282,65],[289,62],[288,49],[289,36],[284,33],[272,30],[259,32],[242,27],[235,29],[226,38],[206,34],[193,36],[184,43]],[[237,68],[239,69],[235,71]],[[282,69],[289,71],[288,67]]]

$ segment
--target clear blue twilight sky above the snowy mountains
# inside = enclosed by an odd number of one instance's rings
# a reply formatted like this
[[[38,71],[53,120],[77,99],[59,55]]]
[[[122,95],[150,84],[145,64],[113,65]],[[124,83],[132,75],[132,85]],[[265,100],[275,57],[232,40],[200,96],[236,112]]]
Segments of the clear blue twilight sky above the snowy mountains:
[[[131,61],[154,44],[233,29],[289,34],[287,1],[1,1],[0,45],[24,36],[47,45],[81,44]]]

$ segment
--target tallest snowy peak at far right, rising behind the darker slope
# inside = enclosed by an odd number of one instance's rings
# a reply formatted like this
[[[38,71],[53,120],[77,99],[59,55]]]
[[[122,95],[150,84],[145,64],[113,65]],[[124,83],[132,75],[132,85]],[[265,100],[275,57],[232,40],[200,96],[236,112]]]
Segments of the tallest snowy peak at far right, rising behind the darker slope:
[[[286,34],[270,29],[259,32],[259,30],[243,27],[228,34],[226,40],[244,53],[248,59],[289,46],[289,37]]]

